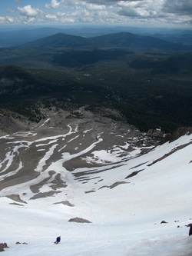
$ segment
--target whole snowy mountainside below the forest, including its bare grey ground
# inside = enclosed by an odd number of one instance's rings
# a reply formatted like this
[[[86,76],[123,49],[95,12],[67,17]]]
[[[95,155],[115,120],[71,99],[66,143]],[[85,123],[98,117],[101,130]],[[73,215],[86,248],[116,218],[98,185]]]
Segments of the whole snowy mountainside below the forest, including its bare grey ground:
[[[5,255],[192,254],[192,135],[154,146],[91,113],[55,120],[0,137]]]

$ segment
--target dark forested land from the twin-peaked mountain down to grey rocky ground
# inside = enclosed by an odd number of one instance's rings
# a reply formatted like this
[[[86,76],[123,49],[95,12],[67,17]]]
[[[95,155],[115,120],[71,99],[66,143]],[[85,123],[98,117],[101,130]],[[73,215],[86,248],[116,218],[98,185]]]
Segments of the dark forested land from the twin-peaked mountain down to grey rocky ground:
[[[128,32],[58,33],[0,48],[0,108],[37,122],[45,118],[42,108],[79,118],[86,106],[114,119],[111,110],[118,111],[141,131],[192,126],[189,48]]]

